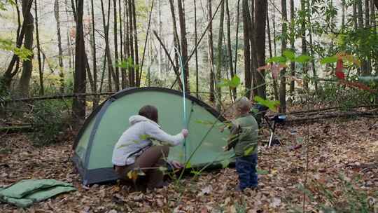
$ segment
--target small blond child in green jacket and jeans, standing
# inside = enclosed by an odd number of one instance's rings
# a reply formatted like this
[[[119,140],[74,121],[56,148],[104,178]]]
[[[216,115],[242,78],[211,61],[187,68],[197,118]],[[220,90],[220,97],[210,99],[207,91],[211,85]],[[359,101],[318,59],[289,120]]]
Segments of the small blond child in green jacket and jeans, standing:
[[[241,97],[235,103],[236,119],[232,121],[231,135],[226,146],[226,150],[233,148],[235,151],[236,170],[239,174],[237,191],[258,186],[258,123],[249,114],[250,109],[251,102],[246,97]]]

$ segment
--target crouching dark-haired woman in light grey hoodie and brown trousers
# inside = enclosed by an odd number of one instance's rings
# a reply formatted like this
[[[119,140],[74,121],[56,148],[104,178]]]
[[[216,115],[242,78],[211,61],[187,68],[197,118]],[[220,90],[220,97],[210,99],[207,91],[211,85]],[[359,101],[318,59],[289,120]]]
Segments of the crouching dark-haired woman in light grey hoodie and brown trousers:
[[[112,162],[115,172],[119,179],[127,179],[128,172],[140,169],[146,174],[144,184],[147,188],[165,186],[162,171],[151,167],[164,166],[169,146],[181,144],[188,136],[188,130],[183,129],[177,135],[167,134],[158,125],[158,109],[150,105],[142,107],[139,115],[131,116],[129,122],[130,128],[123,132],[113,149]],[[153,139],[164,145],[153,145]]]

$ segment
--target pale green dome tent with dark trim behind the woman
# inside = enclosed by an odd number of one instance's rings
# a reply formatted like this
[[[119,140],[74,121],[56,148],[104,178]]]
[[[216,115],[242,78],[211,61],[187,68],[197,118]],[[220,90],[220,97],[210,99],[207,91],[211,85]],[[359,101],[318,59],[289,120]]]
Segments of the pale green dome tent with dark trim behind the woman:
[[[73,162],[83,178],[83,184],[116,180],[111,157],[113,147],[123,132],[129,128],[128,119],[138,114],[141,107],[153,105],[159,111],[159,124],[169,134],[183,128],[182,92],[166,88],[129,88],[121,90],[103,102],[85,121],[73,145]],[[221,132],[214,122],[225,118],[209,105],[191,95],[186,95],[186,118],[189,137],[183,146],[169,151],[169,159],[185,163],[203,140],[190,160],[192,167],[209,163],[219,164],[232,156],[223,146],[229,132]],[[220,121],[218,122],[217,121]]]

